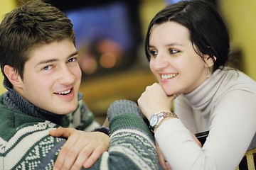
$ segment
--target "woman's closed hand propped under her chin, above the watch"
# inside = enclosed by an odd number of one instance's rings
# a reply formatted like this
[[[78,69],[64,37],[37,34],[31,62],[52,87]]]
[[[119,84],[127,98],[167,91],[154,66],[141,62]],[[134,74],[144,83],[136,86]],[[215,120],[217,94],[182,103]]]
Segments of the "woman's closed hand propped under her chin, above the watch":
[[[151,115],[161,111],[171,111],[171,103],[174,96],[167,96],[161,84],[154,83],[147,86],[146,90],[138,99],[139,108],[149,120]]]

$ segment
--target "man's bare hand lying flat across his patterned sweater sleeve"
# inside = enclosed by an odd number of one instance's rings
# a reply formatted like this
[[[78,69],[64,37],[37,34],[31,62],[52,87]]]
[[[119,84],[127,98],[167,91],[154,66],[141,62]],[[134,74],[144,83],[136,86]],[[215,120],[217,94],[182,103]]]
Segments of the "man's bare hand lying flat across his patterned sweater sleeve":
[[[102,132],[84,132],[74,128],[50,130],[53,137],[68,138],[60,150],[53,169],[89,168],[109,148],[110,137]]]

